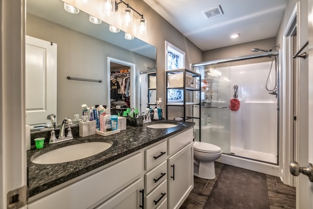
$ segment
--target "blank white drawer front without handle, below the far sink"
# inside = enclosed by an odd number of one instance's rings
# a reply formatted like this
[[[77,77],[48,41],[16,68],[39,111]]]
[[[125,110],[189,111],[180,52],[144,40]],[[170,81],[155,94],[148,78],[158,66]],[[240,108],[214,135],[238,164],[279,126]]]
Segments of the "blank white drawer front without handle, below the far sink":
[[[184,145],[186,145],[188,142],[193,141],[193,129],[192,128],[188,129],[187,131],[184,131],[179,135],[176,135],[175,137],[168,139],[167,141],[168,141],[168,154],[172,155],[180,148],[182,148]]]

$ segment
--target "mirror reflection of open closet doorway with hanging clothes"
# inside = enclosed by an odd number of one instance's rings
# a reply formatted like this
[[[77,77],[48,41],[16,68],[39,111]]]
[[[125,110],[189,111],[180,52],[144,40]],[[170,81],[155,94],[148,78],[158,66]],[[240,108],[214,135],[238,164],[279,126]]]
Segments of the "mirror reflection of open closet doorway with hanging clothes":
[[[134,64],[123,61],[110,60],[110,104],[111,109],[117,111],[133,107],[133,73]]]

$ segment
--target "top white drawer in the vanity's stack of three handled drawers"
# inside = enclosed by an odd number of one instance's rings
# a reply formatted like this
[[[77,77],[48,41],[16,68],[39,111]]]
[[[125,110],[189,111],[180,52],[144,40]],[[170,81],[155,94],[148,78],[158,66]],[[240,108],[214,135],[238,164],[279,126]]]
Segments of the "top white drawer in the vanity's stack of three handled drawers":
[[[149,170],[158,163],[161,163],[167,158],[167,142],[163,141],[162,143],[147,149],[145,151],[145,168]]]

